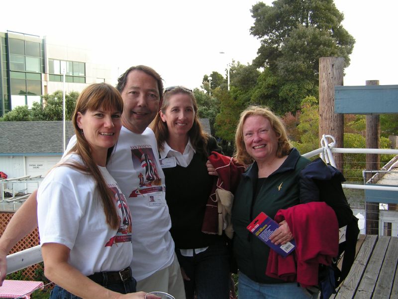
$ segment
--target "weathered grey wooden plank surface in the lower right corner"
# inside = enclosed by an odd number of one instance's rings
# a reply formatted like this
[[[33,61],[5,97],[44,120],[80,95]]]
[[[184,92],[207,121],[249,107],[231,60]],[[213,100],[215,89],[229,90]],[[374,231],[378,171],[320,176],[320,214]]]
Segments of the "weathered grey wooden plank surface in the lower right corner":
[[[398,299],[398,237],[361,235],[350,273],[330,298]]]

